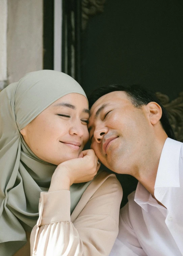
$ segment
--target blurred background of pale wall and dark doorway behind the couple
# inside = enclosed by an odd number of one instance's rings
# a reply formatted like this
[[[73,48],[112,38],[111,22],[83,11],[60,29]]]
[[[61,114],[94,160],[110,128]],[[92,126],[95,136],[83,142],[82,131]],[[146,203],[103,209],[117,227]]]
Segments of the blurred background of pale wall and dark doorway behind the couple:
[[[62,71],[86,94],[141,84],[183,141],[182,0],[0,0],[0,90],[26,73]],[[137,181],[117,175],[122,205]]]

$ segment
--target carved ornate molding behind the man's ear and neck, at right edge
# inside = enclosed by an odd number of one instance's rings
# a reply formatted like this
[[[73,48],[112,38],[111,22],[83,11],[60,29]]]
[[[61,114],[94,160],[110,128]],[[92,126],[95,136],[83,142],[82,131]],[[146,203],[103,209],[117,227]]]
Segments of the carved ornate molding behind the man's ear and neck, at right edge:
[[[156,93],[156,97],[168,112],[169,122],[177,140],[183,142],[183,92],[180,92],[179,97],[171,102],[167,95],[160,92]]]

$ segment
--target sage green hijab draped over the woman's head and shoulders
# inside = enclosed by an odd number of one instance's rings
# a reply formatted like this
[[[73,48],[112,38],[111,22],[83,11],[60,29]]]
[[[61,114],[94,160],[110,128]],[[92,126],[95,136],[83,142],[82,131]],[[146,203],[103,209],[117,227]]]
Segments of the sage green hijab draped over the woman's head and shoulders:
[[[40,192],[48,191],[56,168],[33,154],[20,130],[69,93],[86,97],[73,78],[53,70],[31,72],[0,93],[1,256],[13,255],[26,243],[25,231],[38,219]],[[71,186],[71,213],[89,183]]]

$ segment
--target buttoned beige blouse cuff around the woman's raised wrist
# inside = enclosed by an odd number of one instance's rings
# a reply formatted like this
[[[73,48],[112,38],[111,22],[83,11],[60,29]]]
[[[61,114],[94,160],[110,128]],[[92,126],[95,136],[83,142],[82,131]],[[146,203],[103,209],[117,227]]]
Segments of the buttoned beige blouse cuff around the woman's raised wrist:
[[[71,221],[69,190],[41,192],[37,226],[59,221]]]

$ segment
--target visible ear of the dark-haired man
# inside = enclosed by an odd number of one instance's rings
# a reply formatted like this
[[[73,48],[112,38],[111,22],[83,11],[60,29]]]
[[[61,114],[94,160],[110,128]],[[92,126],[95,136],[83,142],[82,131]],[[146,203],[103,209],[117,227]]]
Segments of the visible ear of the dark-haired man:
[[[160,105],[156,102],[149,102],[147,104],[149,111],[149,120],[152,124],[157,124],[157,122],[161,119],[162,109]]]

